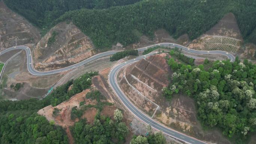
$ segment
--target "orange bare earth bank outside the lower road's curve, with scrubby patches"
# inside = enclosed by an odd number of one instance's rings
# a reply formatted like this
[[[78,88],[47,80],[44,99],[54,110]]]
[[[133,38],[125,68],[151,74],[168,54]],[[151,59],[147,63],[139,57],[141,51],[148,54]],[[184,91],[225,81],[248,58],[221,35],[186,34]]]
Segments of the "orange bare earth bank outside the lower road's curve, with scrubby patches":
[[[120,60],[117,63],[120,63],[120,62],[123,62],[123,60]],[[126,123],[126,125],[130,130],[126,138],[125,144],[129,144],[129,141],[131,140],[133,135],[144,135],[146,133],[146,126],[142,122],[137,120],[131,113],[129,113],[129,111],[121,104],[118,97],[112,92],[111,88],[109,87],[106,81],[107,74],[109,73],[109,71],[110,71],[110,68],[105,68],[104,70],[101,71],[100,75],[93,77],[92,79],[93,84],[91,86],[91,89],[86,89],[85,91],[82,91],[81,93],[72,96],[69,100],[62,102],[56,107],[52,107],[52,105],[49,105],[38,111],[40,115],[45,116],[49,121],[54,120],[55,124],[65,128],[70,144],[74,143],[74,139],[72,137],[69,127],[74,125],[74,123],[79,120],[78,118],[76,119],[71,118],[72,108],[76,106],[79,107],[80,102],[83,102],[83,101],[85,102],[85,105],[97,104],[97,101],[86,98],[86,94],[95,89],[98,89],[106,97],[106,100],[101,100],[101,101],[107,101],[114,104],[114,105],[105,105],[102,111],[100,112],[100,115],[109,116],[113,119],[113,113],[114,113],[114,110],[116,110],[116,108],[119,108],[123,111],[124,119],[122,121]],[[58,109],[59,112],[57,115],[54,115],[54,111],[56,109]],[[93,108],[93,107],[88,108],[83,112],[83,115],[81,118],[86,118],[88,123],[93,123],[94,117],[97,114],[97,111],[98,110],[96,108]],[[171,140],[170,138],[168,137],[166,138],[168,142],[171,142],[172,144],[178,144],[175,141]]]

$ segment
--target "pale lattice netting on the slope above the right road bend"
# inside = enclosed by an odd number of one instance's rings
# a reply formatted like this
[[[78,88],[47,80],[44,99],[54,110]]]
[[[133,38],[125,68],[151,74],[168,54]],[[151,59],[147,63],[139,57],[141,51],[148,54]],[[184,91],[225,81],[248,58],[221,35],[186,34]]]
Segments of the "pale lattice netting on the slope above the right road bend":
[[[203,39],[203,50],[223,50],[226,52],[236,52],[238,42],[241,40],[225,36],[207,36]]]

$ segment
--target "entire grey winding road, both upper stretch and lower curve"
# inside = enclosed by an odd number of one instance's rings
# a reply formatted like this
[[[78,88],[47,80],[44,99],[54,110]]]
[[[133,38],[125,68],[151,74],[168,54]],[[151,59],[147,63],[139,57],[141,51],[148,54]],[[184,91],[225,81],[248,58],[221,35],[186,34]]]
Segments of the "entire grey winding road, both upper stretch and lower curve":
[[[152,48],[155,46],[167,46],[167,47],[177,47],[177,48],[181,48],[185,51],[191,52],[191,53],[196,53],[196,54],[221,54],[221,55],[225,55],[227,56],[228,59],[230,59],[231,62],[233,62],[235,60],[235,57],[225,51],[220,51],[220,50],[214,50],[214,51],[202,51],[202,50],[193,50],[193,49],[189,49],[186,48],[185,46],[181,46],[181,45],[177,45],[174,43],[159,43],[156,45],[151,45],[151,46],[147,46],[144,48],[140,48],[138,49],[139,51],[144,51],[147,48]],[[0,56],[3,55],[6,52],[9,52],[11,50],[16,50],[16,49],[23,49],[26,51],[27,54],[27,68],[28,71],[36,76],[46,76],[46,75],[50,75],[50,74],[55,74],[55,73],[60,73],[62,71],[67,71],[67,70],[71,70],[73,68],[77,68],[80,67],[81,65],[87,64],[89,62],[94,61],[95,59],[98,58],[102,58],[104,56],[108,56],[108,55],[113,55],[118,51],[108,51],[108,52],[103,52],[103,53],[99,53],[97,55],[94,55],[88,59],[85,59],[84,61],[81,61],[77,64],[65,67],[65,68],[60,68],[57,70],[51,70],[51,71],[37,71],[34,69],[33,67],[33,59],[31,56],[31,51],[27,46],[15,46],[12,48],[8,48],[5,49],[3,51],[0,52]],[[177,132],[173,129],[170,129],[164,125],[162,125],[161,123],[153,120],[151,117],[147,116],[145,113],[143,113],[141,110],[139,110],[134,104],[132,104],[131,101],[129,101],[129,99],[127,98],[127,96],[125,96],[124,92],[122,92],[122,90],[120,89],[118,82],[116,80],[116,76],[119,70],[121,70],[122,67],[131,64],[133,62],[139,61],[140,59],[146,58],[147,56],[150,55],[154,55],[156,52],[154,53],[149,53],[147,55],[143,55],[143,56],[138,56],[137,58],[131,59],[129,61],[123,62],[119,65],[116,65],[115,67],[112,68],[112,70],[109,73],[109,82],[110,82],[110,86],[112,87],[113,91],[116,93],[116,95],[119,97],[119,99],[121,100],[121,102],[125,105],[125,107],[127,107],[127,109],[135,116],[137,117],[141,122],[144,122],[146,124],[150,124],[153,128],[157,129],[158,131],[162,131],[165,134],[169,135],[170,137],[176,138],[180,141],[184,141],[185,143],[189,143],[189,144],[207,144],[204,141],[198,140],[196,138],[190,137],[188,135],[182,134],[180,132]]]

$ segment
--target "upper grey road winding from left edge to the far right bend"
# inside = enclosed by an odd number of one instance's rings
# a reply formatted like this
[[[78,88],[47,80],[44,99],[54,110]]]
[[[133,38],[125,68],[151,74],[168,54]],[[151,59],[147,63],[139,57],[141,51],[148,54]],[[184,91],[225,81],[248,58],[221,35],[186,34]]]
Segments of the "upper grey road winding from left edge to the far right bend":
[[[158,45],[159,46],[177,47],[177,48],[181,48],[183,50],[186,50],[188,52],[197,53],[197,54],[221,54],[221,55],[227,56],[228,59],[230,59],[231,61],[235,60],[235,57],[232,54],[228,53],[228,52],[224,52],[224,51],[220,51],[220,50],[214,50],[214,51],[193,50],[193,49],[186,48],[185,46],[177,45],[177,44],[174,44],[174,43],[159,43],[159,44],[156,44],[156,45],[151,45],[151,46],[147,46],[147,47],[144,47],[144,48],[140,48],[138,50],[144,51],[147,48],[152,48],[152,47],[158,46]],[[103,52],[103,53],[99,53],[97,55],[94,55],[94,56],[92,56],[88,59],[85,59],[85,60],[77,63],[77,64],[70,65],[70,66],[65,67],[65,68],[60,68],[60,69],[51,70],[51,71],[37,71],[33,67],[33,62],[32,62],[33,60],[32,60],[32,57],[31,57],[31,51],[27,46],[15,46],[15,47],[12,47],[12,48],[5,49],[5,50],[0,52],[0,56],[3,55],[6,52],[9,52],[9,51],[15,50],[15,49],[23,49],[23,50],[26,51],[28,71],[31,74],[36,75],[36,76],[45,76],[45,75],[49,75],[49,74],[55,74],[55,73],[60,73],[62,71],[71,70],[73,68],[80,67],[81,65],[87,64],[88,62],[94,61],[95,59],[102,58],[102,57],[108,56],[108,55],[113,55],[116,52],[118,52],[118,51],[107,51],[107,52]]]

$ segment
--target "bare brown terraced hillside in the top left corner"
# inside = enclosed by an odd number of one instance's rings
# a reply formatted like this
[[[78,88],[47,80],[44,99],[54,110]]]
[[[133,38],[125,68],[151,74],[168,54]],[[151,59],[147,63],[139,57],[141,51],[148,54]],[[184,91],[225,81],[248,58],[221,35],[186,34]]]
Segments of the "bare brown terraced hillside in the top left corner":
[[[16,45],[36,44],[39,39],[37,28],[0,1],[0,50]]]

